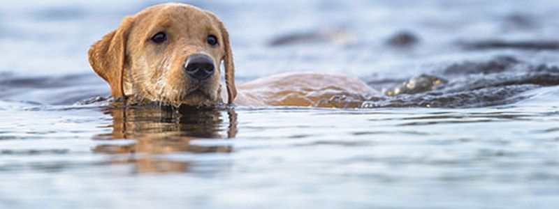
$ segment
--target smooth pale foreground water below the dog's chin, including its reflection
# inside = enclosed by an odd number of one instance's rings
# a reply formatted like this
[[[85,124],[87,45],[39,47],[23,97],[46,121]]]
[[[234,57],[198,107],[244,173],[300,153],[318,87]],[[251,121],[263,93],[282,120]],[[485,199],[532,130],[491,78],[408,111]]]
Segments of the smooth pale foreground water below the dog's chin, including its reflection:
[[[558,90],[479,109],[4,105],[0,208],[556,206]]]

